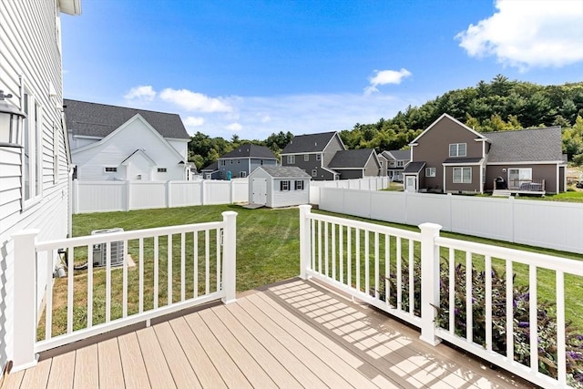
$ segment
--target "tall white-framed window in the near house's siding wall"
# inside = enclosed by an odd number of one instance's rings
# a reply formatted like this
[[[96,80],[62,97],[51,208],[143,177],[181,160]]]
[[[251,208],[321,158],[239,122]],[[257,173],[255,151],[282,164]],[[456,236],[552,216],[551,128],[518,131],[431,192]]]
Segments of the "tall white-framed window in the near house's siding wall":
[[[34,200],[42,194],[42,108],[35,102],[34,97],[25,92],[23,110],[26,113],[23,132],[25,147],[23,149],[23,199]]]

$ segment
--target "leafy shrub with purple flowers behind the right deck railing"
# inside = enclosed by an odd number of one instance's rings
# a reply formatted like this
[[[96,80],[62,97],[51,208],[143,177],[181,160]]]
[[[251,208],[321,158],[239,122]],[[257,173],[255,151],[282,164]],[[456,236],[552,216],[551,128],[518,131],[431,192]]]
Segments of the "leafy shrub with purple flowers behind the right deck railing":
[[[408,264],[402,266],[402,307],[409,310],[409,270]],[[421,276],[420,267],[414,269],[414,314],[420,315]],[[389,283],[388,302],[396,306],[396,277],[387,279]],[[465,266],[461,263],[455,266],[455,334],[466,336],[466,302],[465,302]],[[384,284],[384,282],[381,282]],[[527,287],[513,288],[513,331],[514,359],[518,363],[530,363],[530,294]],[[379,291],[380,298],[385,301],[384,285]],[[448,265],[441,266],[440,304],[435,307],[437,326],[449,330],[449,271]],[[537,336],[538,336],[538,371],[557,378],[557,320],[550,311],[548,302],[538,302],[537,305]],[[486,346],[486,273],[472,268],[472,325],[473,341]],[[506,277],[492,271],[492,350],[506,355]],[[566,358],[569,384],[583,388],[583,335],[576,329],[566,328]]]

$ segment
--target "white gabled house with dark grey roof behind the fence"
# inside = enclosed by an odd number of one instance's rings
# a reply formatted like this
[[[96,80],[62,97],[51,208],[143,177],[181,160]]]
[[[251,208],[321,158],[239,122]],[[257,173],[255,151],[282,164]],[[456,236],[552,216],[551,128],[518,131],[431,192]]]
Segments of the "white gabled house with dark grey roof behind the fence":
[[[191,179],[179,115],[69,99],[65,114],[77,179]]]

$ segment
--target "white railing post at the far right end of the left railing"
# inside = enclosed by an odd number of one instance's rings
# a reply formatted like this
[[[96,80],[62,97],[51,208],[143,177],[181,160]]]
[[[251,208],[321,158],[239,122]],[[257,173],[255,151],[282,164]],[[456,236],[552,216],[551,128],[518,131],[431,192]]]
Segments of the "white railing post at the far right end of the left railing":
[[[225,296],[221,300],[229,304],[235,302],[237,289],[237,212],[222,212],[222,220],[225,223],[222,236],[222,289]]]

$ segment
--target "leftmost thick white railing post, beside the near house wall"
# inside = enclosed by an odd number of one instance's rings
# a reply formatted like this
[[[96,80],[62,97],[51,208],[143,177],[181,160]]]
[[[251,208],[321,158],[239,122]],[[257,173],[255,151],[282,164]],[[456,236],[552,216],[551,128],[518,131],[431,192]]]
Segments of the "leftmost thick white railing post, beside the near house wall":
[[[13,372],[32,367],[38,361],[35,355],[37,234],[38,230],[23,230],[12,236],[15,243]]]

